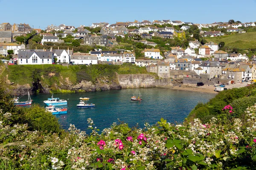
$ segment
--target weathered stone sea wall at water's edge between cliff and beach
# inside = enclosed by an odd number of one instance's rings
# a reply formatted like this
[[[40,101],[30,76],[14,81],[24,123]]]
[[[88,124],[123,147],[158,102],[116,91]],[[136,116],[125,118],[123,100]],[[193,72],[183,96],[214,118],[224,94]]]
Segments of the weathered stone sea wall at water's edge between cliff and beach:
[[[155,76],[150,74],[119,74],[118,81],[122,88],[172,86],[171,79],[156,79]]]

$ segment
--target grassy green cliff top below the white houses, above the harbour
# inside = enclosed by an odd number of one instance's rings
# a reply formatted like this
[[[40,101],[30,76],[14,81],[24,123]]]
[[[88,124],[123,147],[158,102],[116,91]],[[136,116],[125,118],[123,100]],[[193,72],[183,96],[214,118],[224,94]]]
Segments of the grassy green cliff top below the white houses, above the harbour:
[[[51,86],[59,85],[66,78],[73,84],[82,79],[95,82],[97,78],[108,77],[115,78],[118,74],[149,74],[145,67],[138,67],[132,64],[123,65],[9,65],[8,69],[3,71],[1,77],[6,77],[11,82],[19,85],[31,84],[35,79]]]

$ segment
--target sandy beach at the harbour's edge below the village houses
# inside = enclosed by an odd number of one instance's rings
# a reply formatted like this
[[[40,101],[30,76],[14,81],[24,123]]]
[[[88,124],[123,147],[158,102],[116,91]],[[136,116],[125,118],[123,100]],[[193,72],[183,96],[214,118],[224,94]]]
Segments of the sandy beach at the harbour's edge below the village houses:
[[[227,88],[227,89],[241,88],[241,87],[245,87],[246,85],[247,85],[247,83],[237,83],[237,84],[233,84],[233,85],[226,85],[225,88]],[[197,91],[197,92],[201,92],[201,93],[218,94],[218,92],[214,91],[214,89],[216,87],[214,87],[213,85],[209,85],[209,86],[204,85],[204,86],[197,87],[196,85],[183,84],[180,87],[179,86],[173,86],[173,87],[169,87],[169,88],[173,89],[173,90]]]

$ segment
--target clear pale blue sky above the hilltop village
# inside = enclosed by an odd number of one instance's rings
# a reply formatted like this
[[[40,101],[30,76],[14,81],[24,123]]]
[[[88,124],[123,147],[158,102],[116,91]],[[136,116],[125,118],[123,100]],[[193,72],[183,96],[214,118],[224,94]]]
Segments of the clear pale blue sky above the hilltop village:
[[[256,21],[256,0],[0,0],[0,23],[89,26],[136,20]]]

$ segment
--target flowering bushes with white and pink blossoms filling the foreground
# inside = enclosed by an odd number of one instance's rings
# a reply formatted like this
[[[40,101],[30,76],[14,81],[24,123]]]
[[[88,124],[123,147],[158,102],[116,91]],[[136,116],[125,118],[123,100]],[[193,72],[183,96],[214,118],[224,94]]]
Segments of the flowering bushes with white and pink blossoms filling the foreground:
[[[233,108],[222,113],[231,115]],[[29,131],[26,124],[10,127],[12,113],[1,111],[0,169],[255,169],[256,105],[244,118],[175,126],[161,119],[143,129],[113,123],[102,134],[88,119],[90,135],[70,125],[70,132],[59,136]]]

